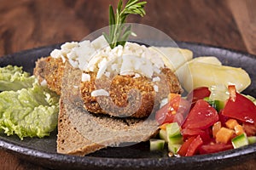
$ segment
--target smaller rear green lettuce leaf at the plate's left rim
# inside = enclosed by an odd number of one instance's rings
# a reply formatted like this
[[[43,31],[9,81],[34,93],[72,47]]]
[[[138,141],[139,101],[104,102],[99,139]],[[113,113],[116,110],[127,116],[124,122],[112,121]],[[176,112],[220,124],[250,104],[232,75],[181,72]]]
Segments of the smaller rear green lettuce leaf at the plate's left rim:
[[[0,68],[0,91],[32,88],[35,81],[37,79],[31,77],[28,72],[22,71],[22,67],[8,65]]]

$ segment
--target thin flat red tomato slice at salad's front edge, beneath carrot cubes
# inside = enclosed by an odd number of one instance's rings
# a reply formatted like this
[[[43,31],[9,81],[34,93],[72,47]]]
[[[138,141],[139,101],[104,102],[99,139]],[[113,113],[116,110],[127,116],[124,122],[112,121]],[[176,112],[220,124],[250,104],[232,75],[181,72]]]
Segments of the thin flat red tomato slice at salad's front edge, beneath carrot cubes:
[[[200,154],[212,154],[219,151],[233,149],[232,144],[203,144],[199,148]]]

